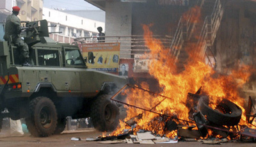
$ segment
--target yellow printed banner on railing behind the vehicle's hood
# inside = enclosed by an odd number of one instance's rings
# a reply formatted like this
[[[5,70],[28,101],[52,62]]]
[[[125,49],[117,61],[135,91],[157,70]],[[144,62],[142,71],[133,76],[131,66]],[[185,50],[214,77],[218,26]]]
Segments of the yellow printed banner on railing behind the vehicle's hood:
[[[105,72],[118,72],[120,43],[86,43],[81,45],[88,68]]]

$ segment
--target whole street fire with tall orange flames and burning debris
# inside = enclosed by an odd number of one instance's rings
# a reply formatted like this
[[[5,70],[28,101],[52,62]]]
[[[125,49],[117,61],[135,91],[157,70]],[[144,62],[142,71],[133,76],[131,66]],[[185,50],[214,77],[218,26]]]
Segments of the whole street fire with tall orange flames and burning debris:
[[[143,29],[145,36],[152,36],[148,26]],[[254,141],[252,100],[245,110],[245,100],[239,96],[239,89],[255,71],[253,68],[241,65],[230,74],[218,74],[198,54],[202,49],[189,43],[185,47],[189,59],[184,71],[178,72],[176,59],[169,54],[169,49],[164,49],[155,38],[145,40],[150,54],[157,57],[152,59],[149,73],[159,82],[160,94],[150,91],[146,82],[140,87],[127,85],[120,89],[111,100],[125,105],[127,117],[120,121],[120,127],[111,137],[147,130],[176,140]]]

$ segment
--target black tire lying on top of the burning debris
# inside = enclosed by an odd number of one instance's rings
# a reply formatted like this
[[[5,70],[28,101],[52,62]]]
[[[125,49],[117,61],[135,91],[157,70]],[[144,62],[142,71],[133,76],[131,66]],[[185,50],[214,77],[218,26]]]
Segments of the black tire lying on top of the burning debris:
[[[217,105],[216,109],[212,109],[209,107],[209,97],[207,96],[200,97],[198,110],[206,115],[208,121],[216,125],[237,125],[242,115],[241,108],[227,99],[223,99],[220,104]]]

